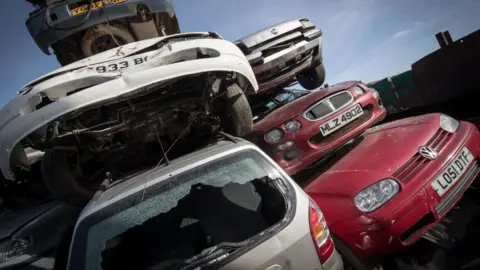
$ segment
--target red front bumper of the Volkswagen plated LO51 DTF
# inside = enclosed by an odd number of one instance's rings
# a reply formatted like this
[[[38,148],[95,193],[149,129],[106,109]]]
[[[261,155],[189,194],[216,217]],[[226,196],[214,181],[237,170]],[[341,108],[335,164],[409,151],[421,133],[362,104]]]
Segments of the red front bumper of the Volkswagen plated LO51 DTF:
[[[476,160],[462,174],[454,186],[441,198],[430,183],[442,172],[466,146]],[[451,154],[449,154],[451,153]],[[330,225],[330,228],[342,230],[341,238],[347,241],[355,252],[362,257],[379,256],[401,250],[418,241],[423,234],[435,226],[460,201],[463,194],[478,175],[477,162],[480,158],[480,132],[470,123],[461,122],[459,130],[445,146],[442,155],[445,160],[432,166],[435,170],[426,169],[425,174],[418,174],[410,180],[412,186],[405,187],[402,192],[414,192],[406,201],[399,203],[395,197],[379,210]],[[428,180],[424,180],[428,179]],[[419,180],[416,181],[415,180]],[[415,191],[416,190],[416,191]],[[392,205],[393,208],[387,206]],[[364,220],[374,219],[378,222],[362,226]],[[362,221],[363,220],[363,221]],[[358,226],[351,226],[358,225]]]

